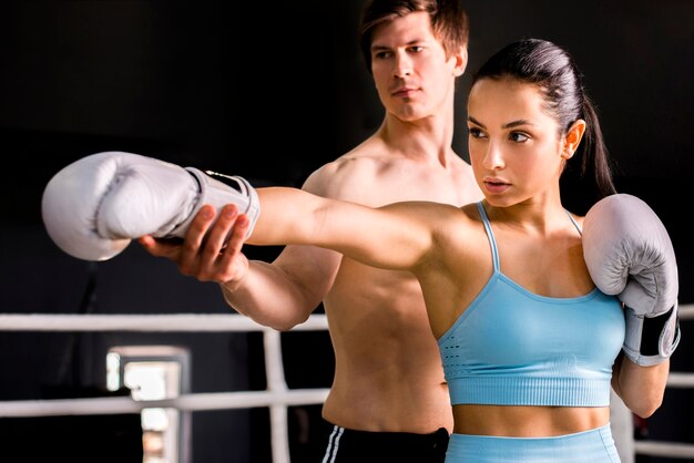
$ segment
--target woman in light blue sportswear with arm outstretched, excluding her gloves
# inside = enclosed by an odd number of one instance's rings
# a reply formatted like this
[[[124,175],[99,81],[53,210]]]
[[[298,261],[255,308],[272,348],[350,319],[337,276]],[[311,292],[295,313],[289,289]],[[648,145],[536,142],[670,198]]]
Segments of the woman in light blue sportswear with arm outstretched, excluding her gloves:
[[[259,188],[247,243],[318,245],[417,276],[453,405],[447,462],[616,462],[610,387],[649,416],[669,361],[642,367],[620,354],[622,303],[595,288],[583,218],[562,205],[560,177],[574,158],[599,197],[614,193],[571,56],[542,40],[502,49],[473,79],[468,128],[479,204],[369,208]],[[216,233],[207,248],[232,259],[248,219],[232,206],[220,220],[236,222],[232,244],[222,249]]]

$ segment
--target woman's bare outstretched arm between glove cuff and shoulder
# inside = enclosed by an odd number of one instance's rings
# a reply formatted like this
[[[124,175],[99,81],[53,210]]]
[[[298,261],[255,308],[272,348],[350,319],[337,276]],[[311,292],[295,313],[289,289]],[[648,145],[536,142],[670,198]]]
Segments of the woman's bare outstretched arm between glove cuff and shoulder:
[[[330,199],[302,189],[257,189],[261,215],[252,245],[315,245],[364,264],[408,270],[432,244],[435,203],[397,203],[379,208]]]

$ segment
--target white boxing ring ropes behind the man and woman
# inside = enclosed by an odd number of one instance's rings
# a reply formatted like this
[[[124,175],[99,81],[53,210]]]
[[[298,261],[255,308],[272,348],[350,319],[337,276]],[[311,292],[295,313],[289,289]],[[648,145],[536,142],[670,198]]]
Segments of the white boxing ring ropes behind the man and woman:
[[[680,318],[694,319],[694,305],[681,305]],[[313,315],[292,331],[327,330],[325,315]],[[328,389],[287,388],[282,360],[280,332],[234,313],[181,315],[13,315],[0,313],[0,331],[261,331],[265,350],[267,390],[184,394],[174,399],[135,401],[127,397],[64,400],[0,401],[0,418],[137,413],[145,408],[182,411],[271,409],[273,463],[289,463],[287,407],[319,404]],[[694,373],[671,372],[669,388],[694,389]],[[694,444],[635,441],[639,454],[694,457]]]

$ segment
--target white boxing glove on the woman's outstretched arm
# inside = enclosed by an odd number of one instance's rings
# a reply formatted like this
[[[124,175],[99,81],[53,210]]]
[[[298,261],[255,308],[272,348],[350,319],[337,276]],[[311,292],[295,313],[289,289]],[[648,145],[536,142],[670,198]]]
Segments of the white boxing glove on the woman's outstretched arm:
[[[139,154],[92,154],[50,179],[43,223],[58,247],[93,261],[114,257],[143,235],[184,237],[204,204],[235,204],[251,219],[251,235],[259,213],[255,189],[242,177],[210,175]]]

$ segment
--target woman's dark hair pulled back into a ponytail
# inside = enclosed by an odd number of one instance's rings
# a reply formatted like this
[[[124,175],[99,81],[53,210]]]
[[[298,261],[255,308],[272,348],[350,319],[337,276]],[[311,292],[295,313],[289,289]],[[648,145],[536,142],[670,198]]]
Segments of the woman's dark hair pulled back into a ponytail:
[[[585,121],[583,140],[564,172],[578,165],[581,178],[594,183],[598,199],[616,193],[598,113],[569,52],[545,40],[520,40],[491,56],[473,75],[472,84],[482,79],[503,78],[538,85],[542,90],[544,109],[559,123],[560,135],[565,134],[576,120]]]

